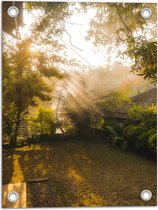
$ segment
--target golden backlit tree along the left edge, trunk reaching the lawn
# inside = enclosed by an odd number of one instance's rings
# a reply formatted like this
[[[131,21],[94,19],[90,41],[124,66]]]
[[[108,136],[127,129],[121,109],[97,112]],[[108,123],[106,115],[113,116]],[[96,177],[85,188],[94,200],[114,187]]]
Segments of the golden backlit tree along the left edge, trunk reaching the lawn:
[[[3,45],[3,134],[12,144],[16,144],[19,124],[29,107],[51,99],[44,72],[57,76],[56,69],[40,63],[39,53],[30,51],[30,45],[30,39],[19,41],[10,51]]]

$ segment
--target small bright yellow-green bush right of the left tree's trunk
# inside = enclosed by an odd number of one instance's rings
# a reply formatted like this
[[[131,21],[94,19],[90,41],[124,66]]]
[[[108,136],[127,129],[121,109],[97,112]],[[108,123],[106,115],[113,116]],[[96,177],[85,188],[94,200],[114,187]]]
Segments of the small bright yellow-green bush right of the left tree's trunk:
[[[28,123],[33,135],[52,135],[56,131],[54,112],[52,109],[40,107],[35,117],[28,117]]]

